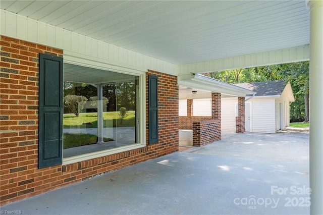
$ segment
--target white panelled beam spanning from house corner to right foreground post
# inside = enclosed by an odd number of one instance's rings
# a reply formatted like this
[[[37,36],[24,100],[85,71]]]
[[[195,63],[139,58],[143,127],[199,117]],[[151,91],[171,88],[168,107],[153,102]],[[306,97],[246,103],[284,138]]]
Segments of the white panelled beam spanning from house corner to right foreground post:
[[[264,51],[179,66],[179,75],[216,72],[309,60],[309,45]]]

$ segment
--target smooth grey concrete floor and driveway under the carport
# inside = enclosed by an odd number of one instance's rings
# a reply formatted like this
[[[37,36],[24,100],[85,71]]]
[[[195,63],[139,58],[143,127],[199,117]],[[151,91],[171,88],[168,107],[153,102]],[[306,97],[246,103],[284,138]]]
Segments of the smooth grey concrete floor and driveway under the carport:
[[[1,210],[22,214],[309,214],[308,136],[235,134]]]

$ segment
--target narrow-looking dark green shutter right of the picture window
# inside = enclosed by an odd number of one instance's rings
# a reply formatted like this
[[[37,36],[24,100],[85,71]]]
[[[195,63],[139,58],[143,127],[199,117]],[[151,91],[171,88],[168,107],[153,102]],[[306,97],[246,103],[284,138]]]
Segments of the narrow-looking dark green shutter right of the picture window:
[[[158,88],[157,76],[148,76],[149,144],[158,142]]]

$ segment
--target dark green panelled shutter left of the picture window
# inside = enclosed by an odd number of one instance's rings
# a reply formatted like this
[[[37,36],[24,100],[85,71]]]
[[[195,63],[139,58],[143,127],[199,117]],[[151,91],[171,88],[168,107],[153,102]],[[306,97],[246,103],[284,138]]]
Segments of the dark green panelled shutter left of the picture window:
[[[39,53],[38,168],[62,164],[63,58]]]

